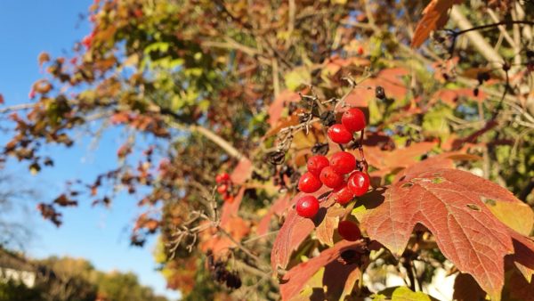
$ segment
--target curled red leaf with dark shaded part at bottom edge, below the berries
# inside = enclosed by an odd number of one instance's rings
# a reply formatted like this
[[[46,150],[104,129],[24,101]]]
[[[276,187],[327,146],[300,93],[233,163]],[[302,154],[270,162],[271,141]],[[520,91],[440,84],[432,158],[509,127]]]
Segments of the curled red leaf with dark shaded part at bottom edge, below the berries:
[[[320,253],[319,256],[313,257],[305,263],[298,264],[287,272],[280,285],[280,294],[283,300],[291,300],[304,289],[307,281],[317,273],[321,267],[325,267],[322,277],[323,286],[326,287],[328,298],[322,299],[337,300],[340,299],[342,291],[352,290],[352,285],[360,278],[359,264],[343,264],[337,259],[345,250],[361,250],[361,241],[341,240],[333,248],[328,248]],[[353,274],[355,273],[355,274]],[[356,277],[355,277],[356,275]],[[347,281],[350,279],[350,281]],[[346,287],[350,287],[345,289]],[[323,289],[324,293],[324,289]],[[333,296],[337,295],[337,296]]]

